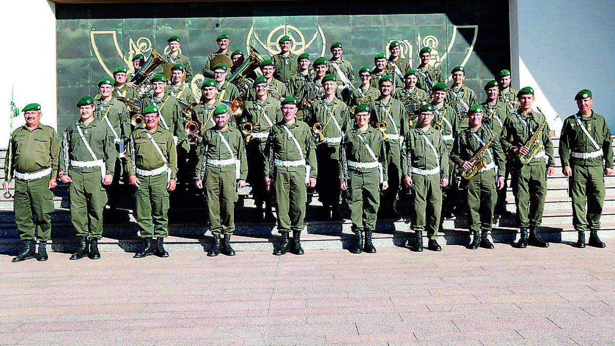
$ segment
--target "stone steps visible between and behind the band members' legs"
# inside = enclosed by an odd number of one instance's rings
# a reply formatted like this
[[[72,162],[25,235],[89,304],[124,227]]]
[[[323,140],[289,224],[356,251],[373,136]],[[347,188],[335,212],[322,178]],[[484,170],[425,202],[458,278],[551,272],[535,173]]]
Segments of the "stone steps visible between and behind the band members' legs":
[[[559,164],[557,154],[559,141],[554,140],[556,163]],[[5,151],[0,152],[0,166],[4,163]],[[4,170],[0,173],[4,178]],[[0,180],[0,181],[2,181]],[[605,177],[606,197],[602,217],[602,238],[615,236],[615,177]],[[545,212],[541,232],[543,237],[552,242],[574,242],[576,232],[572,227],[571,201],[568,197],[568,183],[561,174],[561,167],[557,167],[554,176],[548,180]],[[128,191],[128,189],[125,189]],[[72,252],[77,247],[77,238],[70,222],[68,187],[58,185],[54,191],[55,212],[52,214],[52,251]],[[507,191],[507,209],[515,212],[514,195],[512,190]],[[455,201],[454,203],[461,203]],[[349,212],[343,208],[346,219],[343,222],[317,221],[322,204],[317,196],[312,196],[306,216],[307,233],[301,236],[303,247],[306,250],[315,249],[347,249],[352,246],[351,222],[348,220]],[[401,220],[379,220],[374,234],[376,247],[406,246],[408,239],[413,239],[410,231],[411,207],[407,198],[402,198],[399,211]],[[20,244],[12,199],[0,197],[0,254],[12,254]],[[236,251],[272,251],[279,241],[279,235],[274,223],[252,223],[255,217],[255,206],[250,188],[240,191],[240,198],[236,204],[236,235],[232,238],[232,246]],[[119,215],[120,224],[105,225],[104,238],[99,242],[101,251],[133,252],[141,248],[141,238],[138,236],[138,227],[133,215],[133,201],[129,194],[122,195]],[[167,249],[173,251],[207,251],[212,243],[211,233],[207,231],[204,222],[205,209],[202,196],[174,196],[171,197],[169,211],[169,233],[165,240]],[[491,233],[495,243],[512,243],[517,238],[518,228],[514,215],[498,219]],[[443,231],[440,233],[441,244],[465,245],[469,243],[470,236],[467,231],[466,215],[459,215],[450,220],[444,220]],[[413,241],[411,241],[413,243]]]

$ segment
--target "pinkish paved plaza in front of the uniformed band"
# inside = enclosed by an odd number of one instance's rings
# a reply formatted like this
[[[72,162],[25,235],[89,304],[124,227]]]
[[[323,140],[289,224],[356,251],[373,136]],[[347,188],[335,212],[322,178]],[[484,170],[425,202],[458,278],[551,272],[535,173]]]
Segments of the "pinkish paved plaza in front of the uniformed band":
[[[606,249],[403,247],[275,257],[103,252],[0,257],[0,344],[536,344],[615,342]]]

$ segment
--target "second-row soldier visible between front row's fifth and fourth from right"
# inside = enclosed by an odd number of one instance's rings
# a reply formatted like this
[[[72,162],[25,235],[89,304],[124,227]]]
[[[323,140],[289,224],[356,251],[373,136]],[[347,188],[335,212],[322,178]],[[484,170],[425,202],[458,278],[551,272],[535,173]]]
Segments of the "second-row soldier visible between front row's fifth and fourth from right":
[[[386,180],[389,183],[389,188],[384,192],[381,200],[380,215],[399,219],[400,214],[395,208],[395,201],[402,179],[402,143],[408,133],[408,119],[403,103],[391,97],[393,78],[391,76],[381,77],[378,86],[380,95],[378,99],[370,103],[370,118],[374,123],[386,124],[386,130],[383,133],[386,136]]]

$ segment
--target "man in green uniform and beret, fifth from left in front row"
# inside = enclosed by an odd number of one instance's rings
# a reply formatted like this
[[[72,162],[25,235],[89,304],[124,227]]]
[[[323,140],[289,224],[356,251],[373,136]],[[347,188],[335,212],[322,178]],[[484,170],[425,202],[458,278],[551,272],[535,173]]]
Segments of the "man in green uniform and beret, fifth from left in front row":
[[[282,121],[271,127],[265,153],[265,186],[274,188],[277,201],[277,229],[282,235],[274,255],[290,251],[288,233],[293,232],[293,253],[302,255],[301,231],[306,215],[308,191],[306,185],[315,187],[316,155],[314,140],[308,124],[296,120],[297,99],[282,100]],[[273,187],[271,186],[273,182]]]

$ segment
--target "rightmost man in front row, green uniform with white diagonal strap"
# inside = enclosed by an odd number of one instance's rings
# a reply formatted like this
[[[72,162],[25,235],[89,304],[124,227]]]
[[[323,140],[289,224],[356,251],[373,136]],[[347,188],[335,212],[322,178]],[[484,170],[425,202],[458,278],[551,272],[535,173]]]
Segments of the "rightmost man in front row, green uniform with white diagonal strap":
[[[605,200],[603,175],[613,175],[613,139],[605,118],[592,110],[592,92],[582,89],[574,100],[579,111],[565,119],[559,151],[562,172],[570,181],[576,246],[585,247],[589,228],[589,246],[605,247],[598,230]]]

